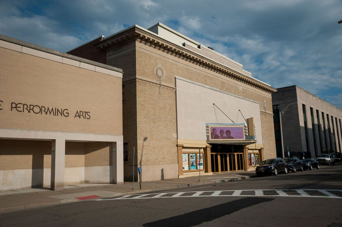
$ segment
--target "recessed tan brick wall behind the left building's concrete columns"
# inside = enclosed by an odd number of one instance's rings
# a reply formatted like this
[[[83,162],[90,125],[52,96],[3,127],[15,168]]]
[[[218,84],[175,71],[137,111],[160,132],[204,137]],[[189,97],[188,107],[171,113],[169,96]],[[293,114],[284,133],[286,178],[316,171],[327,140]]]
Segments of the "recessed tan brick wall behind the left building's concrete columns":
[[[111,166],[112,143],[66,142],[65,167]],[[51,141],[0,140],[0,170],[51,168]]]

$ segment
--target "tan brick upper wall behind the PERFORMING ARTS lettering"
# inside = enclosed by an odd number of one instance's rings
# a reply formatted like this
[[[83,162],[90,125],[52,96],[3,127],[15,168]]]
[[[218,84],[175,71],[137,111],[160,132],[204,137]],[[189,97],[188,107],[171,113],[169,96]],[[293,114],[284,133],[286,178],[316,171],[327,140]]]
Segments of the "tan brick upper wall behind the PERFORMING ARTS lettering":
[[[0,128],[122,134],[121,78],[5,48],[0,59]],[[11,111],[11,102],[38,105],[36,112],[63,108],[69,116]]]

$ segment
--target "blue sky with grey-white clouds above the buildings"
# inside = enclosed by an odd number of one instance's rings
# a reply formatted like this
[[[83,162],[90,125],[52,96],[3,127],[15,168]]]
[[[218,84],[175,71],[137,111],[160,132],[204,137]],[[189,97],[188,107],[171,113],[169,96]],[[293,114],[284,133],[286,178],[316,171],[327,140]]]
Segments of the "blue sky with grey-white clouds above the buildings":
[[[273,87],[298,85],[342,109],[341,0],[0,0],[0,33],[66,52],[161,22]]]

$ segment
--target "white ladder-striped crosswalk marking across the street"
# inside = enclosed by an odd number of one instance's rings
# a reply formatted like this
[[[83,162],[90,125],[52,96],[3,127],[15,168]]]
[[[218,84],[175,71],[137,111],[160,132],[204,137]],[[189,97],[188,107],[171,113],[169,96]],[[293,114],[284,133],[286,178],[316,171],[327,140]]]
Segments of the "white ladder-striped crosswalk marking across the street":
[[[254,195],[241,195],[243,191],[254,191]],[[275,191],[278,195],[265,195],[265,191]],[[291,192],[296,191],[297,194]],[[314,196],[308,194],[306,191],[319,191],[325,194],[325,196]],[[218,190],[218,191],[175,191],[174,195],[167,196],[168,193],[153,193],[153,194],[133,194],[125,195],[119,198],[113,199],[96,199],[100,200],[116,200],[116,199],[154,199],[154,198],[184,198],[184,197],[222,197],[222,196],[239,196],[239,197],[312,197],[312,198],[337,198],[342,199],[342,196],[333,194],[334,191],[342,192],[342,190],[331,190],[331,189],[255,189],[255,190]],[[229,193],[227,193],[229,192]],[[289,194],[288,194],[288,193]],[[187,194],[186,194],[187,193]],[[193,195],[188,195],[189,193],[194,193]],[[299,195],[298,195],[299,194]]]

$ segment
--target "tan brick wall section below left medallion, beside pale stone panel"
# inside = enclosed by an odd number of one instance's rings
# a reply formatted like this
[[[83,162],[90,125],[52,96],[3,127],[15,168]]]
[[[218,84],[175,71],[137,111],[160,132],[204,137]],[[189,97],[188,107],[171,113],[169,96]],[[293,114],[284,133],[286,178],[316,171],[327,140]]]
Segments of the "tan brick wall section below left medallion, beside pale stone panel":
[[[139,165],[177,163],[175,89],[138,81],[137,94]]]

